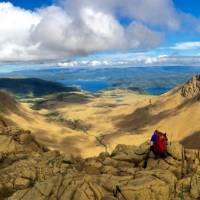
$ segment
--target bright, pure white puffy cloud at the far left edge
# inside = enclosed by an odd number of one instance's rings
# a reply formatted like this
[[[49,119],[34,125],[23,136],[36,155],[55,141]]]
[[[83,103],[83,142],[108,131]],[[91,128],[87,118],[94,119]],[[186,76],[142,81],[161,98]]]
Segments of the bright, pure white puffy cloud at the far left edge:
[[[34,49],[29,40],[31,29],[39,21],[37,13],[0,3],[0,60],[26,58],[26,51]]]

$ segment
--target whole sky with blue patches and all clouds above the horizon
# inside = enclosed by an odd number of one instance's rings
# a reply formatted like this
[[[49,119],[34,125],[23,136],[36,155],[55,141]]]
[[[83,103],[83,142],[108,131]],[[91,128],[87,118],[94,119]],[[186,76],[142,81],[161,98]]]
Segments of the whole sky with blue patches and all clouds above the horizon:
[[[200,66],[199,0],[8,0],[0,24],[2,67]]]

